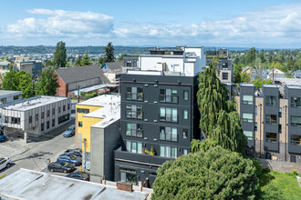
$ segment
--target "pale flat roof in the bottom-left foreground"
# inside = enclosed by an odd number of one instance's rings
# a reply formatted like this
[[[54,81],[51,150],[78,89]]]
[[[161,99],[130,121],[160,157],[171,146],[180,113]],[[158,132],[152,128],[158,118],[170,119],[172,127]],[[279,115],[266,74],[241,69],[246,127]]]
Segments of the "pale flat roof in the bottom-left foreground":
[[[19,169],[0,179],[0,197],[4,199],[146,199],[147,194],[118,190],[114,186]]]

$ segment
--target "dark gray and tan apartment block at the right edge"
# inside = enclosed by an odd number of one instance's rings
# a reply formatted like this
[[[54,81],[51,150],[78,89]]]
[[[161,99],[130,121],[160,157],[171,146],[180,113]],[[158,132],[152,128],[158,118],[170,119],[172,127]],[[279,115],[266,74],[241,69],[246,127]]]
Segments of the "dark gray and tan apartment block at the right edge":
[[[236,95],[247,152],[256,157],[301,163],[301,86],[241,84]]]

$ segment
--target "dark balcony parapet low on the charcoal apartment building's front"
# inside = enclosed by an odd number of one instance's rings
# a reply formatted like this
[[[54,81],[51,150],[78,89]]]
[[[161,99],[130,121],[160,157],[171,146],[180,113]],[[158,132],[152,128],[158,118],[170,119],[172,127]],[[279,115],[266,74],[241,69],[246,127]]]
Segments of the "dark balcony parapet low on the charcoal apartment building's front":
[[[172,160],[171,158],[161,157],[158,155],[141,155],[120,150],[114,151],[114,159],[120,162],[150,165],[162,165],[166,161]]]

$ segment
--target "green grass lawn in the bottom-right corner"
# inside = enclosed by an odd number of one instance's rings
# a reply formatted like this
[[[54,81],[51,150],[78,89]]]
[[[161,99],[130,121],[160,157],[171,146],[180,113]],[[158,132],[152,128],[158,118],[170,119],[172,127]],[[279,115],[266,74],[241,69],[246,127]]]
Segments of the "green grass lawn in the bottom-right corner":
[[[265,191],[269,185],[275,185],[286,199],[301,199],[301,188],[296,181],[296,176],[292,173],[264,170],[260,177],[260,186]]]

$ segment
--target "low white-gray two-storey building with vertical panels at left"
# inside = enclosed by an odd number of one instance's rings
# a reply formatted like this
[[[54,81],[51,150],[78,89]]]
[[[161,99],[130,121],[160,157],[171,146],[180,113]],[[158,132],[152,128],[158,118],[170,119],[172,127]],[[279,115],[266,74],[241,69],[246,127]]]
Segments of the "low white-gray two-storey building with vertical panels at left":
[[[41,95],[0,106],[5,135],[43,135],[70,120],[70,99]]]

